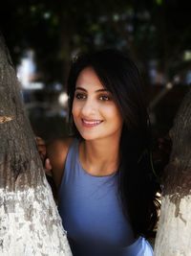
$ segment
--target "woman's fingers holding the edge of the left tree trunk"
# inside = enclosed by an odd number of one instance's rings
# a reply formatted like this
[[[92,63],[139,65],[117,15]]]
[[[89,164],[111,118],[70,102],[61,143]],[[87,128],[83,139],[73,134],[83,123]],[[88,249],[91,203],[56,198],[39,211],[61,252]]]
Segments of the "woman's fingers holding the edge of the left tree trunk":
[[[42,163],[45,169],[45,173],[46,175],[50,175],[53,168],[52,168],[50,159],[47,157],[47,148],[46,148],[45,141],[40,137],[35,137],[35,141],[36,141],[37,150],[40,154],[40,158],[42,160]]]

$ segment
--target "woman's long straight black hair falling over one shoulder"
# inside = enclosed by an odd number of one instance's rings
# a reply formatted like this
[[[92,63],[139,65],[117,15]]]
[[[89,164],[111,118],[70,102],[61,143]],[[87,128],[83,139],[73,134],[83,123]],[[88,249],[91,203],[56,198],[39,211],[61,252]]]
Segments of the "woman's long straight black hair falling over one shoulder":
[[[123,118],[120,139],[118,189],[123,211],[135,235],[149,236],[158,220],[159,185],[150,162],[151,135],[141,77],[134,61],[108,49],[74,58],[68,79],[69,115],[72,120],[75,83],[79,73],[92,67],[114,97]],[[74,133],[80,136],[74,126]]]

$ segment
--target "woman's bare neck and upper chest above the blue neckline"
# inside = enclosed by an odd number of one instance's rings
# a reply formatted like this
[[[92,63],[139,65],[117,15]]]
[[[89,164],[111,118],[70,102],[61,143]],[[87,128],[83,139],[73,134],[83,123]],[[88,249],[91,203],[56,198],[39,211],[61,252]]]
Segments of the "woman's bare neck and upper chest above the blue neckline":
[[[83,169],[91,175],[112,175],[119,165],[119,141],[82,141],[79,159]]]

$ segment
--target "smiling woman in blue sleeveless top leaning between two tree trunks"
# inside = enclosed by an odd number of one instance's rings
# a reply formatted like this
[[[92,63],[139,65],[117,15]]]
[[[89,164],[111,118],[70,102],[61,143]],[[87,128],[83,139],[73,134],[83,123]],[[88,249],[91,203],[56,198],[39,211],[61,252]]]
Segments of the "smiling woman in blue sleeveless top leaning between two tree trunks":
[[[74,136],[39,151],[51,163],[58,209],[76,256],[151,256],[158,217],[149,119],[135,63],[117,50],[74,59]]]

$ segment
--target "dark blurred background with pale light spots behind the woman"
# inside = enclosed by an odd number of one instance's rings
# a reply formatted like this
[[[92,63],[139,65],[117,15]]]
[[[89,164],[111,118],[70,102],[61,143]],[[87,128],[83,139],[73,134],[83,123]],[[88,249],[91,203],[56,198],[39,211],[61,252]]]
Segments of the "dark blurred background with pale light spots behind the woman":
[[[33,131],[67,133],[66,81],[71,59],[115,47],[136,61],[153,134],[165,136],[191,88],[191,7],[178,0],[6,0],[5,36]]]

